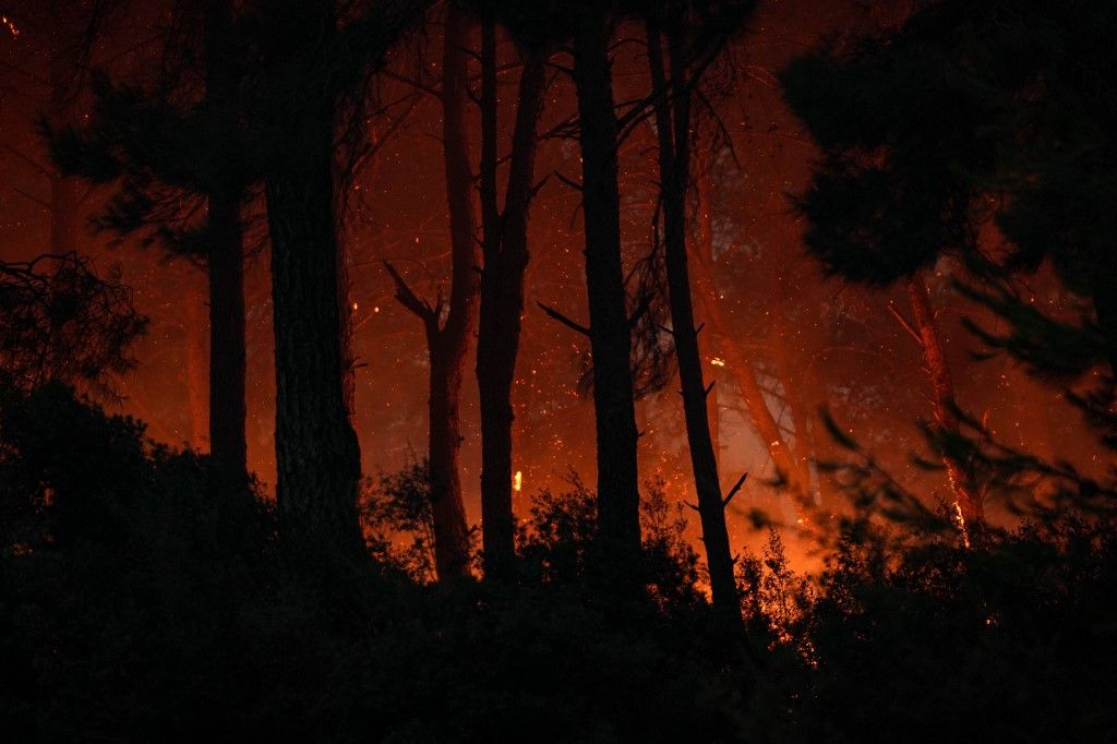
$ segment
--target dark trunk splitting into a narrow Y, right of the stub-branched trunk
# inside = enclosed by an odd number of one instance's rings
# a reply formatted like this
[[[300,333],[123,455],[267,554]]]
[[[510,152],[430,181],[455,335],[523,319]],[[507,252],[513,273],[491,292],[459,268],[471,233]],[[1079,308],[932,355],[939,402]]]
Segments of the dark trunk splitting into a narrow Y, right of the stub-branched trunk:
[[[514,559],[515,517],[512,508],[512,387],[519,352],[527,269],[527,221],[531,211],[535,152],[547,53],[523,48],[516,127],[505,191],[504,212],[497,207],[496,34],[484,21],[481,44],[481,206],[485,266],[480,285],[477,335],[477,385],[481,414],[481,537],[487,576],[506,575]]]

